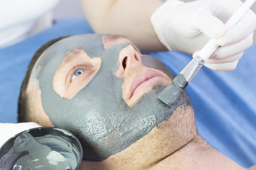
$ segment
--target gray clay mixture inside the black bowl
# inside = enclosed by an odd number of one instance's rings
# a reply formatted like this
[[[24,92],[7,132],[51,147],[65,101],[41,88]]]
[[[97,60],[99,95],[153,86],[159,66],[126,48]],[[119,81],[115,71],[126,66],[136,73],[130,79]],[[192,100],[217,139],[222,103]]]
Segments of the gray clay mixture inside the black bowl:
[[[77,148],[63,137],[45,135],[33,137],[23,132],[16,137],[14,146],[0,159],[0,170],[12,169],[75,169]]]

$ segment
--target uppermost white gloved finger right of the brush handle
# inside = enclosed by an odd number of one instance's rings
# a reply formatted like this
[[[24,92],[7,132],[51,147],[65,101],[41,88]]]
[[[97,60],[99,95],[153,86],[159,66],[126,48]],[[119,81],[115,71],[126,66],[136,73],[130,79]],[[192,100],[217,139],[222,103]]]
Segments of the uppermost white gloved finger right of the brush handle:
[[[248,11],[245,13],[245,16],[243,16],[235,26],[228,29],[225,35],[223,35],[223,38],[220,38],[217,42],[221,46],[234,44],[246,38],[253,33],[255,29],[256,15],[252,11]]]

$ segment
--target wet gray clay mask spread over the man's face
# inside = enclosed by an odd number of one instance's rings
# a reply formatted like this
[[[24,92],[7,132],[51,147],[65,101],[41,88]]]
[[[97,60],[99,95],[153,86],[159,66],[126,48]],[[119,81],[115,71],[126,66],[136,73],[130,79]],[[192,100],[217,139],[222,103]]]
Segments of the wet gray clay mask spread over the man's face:
[[[55,127],[78,137],[84,160],[101,161],[122,151],[169,118],[177,106],[189,103],[183,94],[173,107],[162,105],[157,96],[164,88],[159,85],[144,94],[136,105],[127,106],[122,98],[124,79],[114,74],[119,67],[119,52],[124,47],[127,45],[104,49],[102,35],[72,36],[48,47],[36,65],[44,111]],[[53,75],[68,52],[75,48],[84,50],[90,57],[100,57],[102,64],[78,94],[71,99],[61,98],[53,90]],[[156,60],[146,56],[144,61],[149,62],[150,58]],[[163,64],[157,60],[152,67],[162,68]]]

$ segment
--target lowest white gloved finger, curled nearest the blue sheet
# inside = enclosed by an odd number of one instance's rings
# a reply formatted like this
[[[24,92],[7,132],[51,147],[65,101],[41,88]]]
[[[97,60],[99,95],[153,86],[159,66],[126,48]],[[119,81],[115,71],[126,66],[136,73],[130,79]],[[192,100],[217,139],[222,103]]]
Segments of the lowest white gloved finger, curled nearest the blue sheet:
[[[238,65],[238,61],[239,60],[235,60],[233,62],[224,62],[224,63],[205,63],[204,66],[219,72],[227,72],[235,69]]]

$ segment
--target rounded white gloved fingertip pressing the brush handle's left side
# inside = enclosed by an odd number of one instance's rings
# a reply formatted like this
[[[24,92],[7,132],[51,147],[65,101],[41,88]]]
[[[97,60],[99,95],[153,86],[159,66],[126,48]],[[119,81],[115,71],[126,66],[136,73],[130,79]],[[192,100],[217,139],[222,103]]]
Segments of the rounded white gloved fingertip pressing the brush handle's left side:
[[[221,38],[225,33],[223,22],[213,16],[210,11],[198,11],[193,20],[195,27],[209,38]]]

